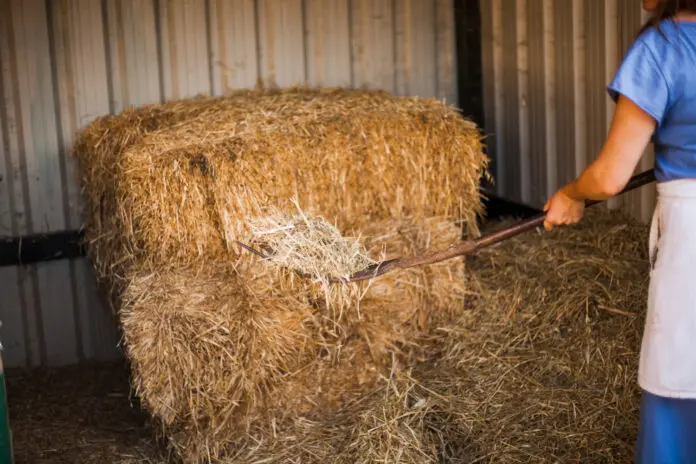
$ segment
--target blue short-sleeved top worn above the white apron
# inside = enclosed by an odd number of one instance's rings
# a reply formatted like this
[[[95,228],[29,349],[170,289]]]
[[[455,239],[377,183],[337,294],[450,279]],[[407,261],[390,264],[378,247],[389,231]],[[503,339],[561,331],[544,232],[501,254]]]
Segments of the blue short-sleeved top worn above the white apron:
[[[658,182],[696,178],[696,22],[670,20],[635,41],[609,84],[657,121],[653,134]]]

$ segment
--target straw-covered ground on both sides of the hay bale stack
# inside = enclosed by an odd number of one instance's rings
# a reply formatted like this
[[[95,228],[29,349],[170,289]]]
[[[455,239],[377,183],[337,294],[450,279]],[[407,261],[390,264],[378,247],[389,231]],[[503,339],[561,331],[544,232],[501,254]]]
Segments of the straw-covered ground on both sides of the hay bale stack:
[[[331,417],[250,431],[226,462],[632,462],[646,238],[591,212],[480,252],[456,322],[431,326],[408,369]],[[18,463],[177,462],[128,412],[120,369],[8,371]]]

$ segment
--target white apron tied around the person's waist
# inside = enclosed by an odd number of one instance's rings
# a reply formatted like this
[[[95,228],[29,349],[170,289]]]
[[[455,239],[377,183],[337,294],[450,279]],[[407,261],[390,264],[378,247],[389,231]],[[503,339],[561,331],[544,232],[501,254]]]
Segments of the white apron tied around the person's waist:
[[[696,398],[696,180],[657,189],[638,382],[655,395]]]

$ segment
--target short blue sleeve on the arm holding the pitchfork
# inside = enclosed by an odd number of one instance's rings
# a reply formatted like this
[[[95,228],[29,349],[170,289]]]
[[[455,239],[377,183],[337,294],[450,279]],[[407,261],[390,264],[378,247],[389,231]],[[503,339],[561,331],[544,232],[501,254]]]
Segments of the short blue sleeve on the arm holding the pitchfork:
[[[615,102],[619,94],[655,118],[657,124],[667,112],[669,85],[649,46],[637,40],[624,58],[607,91]]]

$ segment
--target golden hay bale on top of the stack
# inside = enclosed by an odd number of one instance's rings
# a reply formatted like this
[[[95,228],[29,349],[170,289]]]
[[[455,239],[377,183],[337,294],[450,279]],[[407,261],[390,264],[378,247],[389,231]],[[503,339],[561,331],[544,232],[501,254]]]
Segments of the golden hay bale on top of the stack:
[[[487,160],[436,100],[339,89],[241,91],[100,118],[75,144],[100,277],[234,254],[245,218],[292,199],[340,230],[447,216],[476,232]]]

